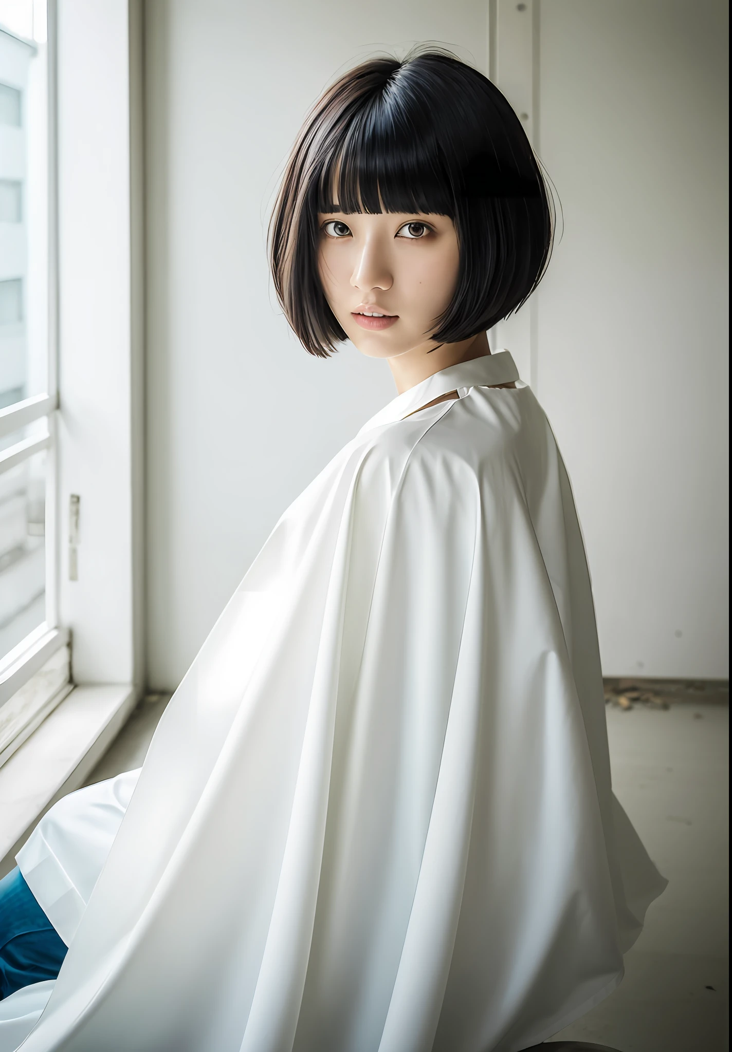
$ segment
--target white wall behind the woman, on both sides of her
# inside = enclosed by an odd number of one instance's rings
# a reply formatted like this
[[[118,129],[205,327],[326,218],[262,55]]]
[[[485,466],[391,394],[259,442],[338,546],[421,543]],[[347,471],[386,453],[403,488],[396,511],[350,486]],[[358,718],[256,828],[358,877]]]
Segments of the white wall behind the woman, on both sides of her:
[[[270,294],[268,207],[302,117],[384,47],[440,41],[487,69],[488,7],[146,4],[155,688],[177,684],[279,513],[394,393],[353,349],[309,358]],[[532,383],[574,482],[606,672],[725,675],[724,5],[539,14],[531,122],[565,235],[534,308]]]

